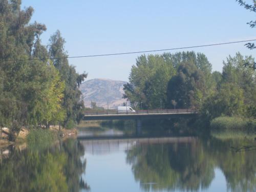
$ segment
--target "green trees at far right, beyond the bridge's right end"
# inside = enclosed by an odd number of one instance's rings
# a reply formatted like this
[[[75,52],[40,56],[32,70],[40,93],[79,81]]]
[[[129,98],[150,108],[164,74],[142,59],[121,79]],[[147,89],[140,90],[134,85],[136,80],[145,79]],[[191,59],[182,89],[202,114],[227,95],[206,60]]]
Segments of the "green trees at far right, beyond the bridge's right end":
[[[223,62],[223,72],[221,79],[218,77],[217,89],[207,97],[202,106],[201,113],[206,119],[211,120],[221,115],[255,118],[255,72],[245,65],[253,62],[251,56],[244,57],[240,53],[234,57],[229,56]]]

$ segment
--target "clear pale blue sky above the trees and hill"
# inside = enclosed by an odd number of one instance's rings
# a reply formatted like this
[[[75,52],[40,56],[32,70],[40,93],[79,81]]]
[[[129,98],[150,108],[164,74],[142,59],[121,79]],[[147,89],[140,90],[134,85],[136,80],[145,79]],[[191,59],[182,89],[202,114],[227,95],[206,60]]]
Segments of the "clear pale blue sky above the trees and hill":
[[[255,20],[255,13],[240,7],[235,0],[23,0],[22,8],[29,6],[35,10],[31,23],[36,20],[47,26],[47,31],[41,35],[43,44],[47,45],[58,29],[67,41],[66,50],[70,56],[169,49],[256,37],[256,28],[246,25]],[[239,51],[256,57],[255,50],[243,45],[184,51],[204,53],[213,70],[221,71],[222,62],[228,55]],[[69,61],[79,73],[86,71],[88,79],[127,81],[139,55]]]

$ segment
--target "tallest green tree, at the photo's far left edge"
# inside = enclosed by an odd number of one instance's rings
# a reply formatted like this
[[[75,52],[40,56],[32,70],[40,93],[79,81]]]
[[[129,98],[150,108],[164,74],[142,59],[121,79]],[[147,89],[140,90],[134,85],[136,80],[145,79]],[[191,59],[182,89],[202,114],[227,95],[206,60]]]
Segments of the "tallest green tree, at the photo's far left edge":
[[[11,132],[14,130],[13,134],[18,132],[18,127],[27,124],[29,99],[24,98],[23,93],[25,93],[26,82],[36,81],[36,79],[28,78],[31,75],[28,70],[31,62],[4,60],[31,58],[34,42],[46,30],[45,25],[36,22],[29,24],[33,8],[20,10],[20,4],[20,1],[15,0],[0,2],[0,70],[2,72],[0,76],[3,78],[0,95],[2,103],[0,124],[10,127]],[[27,78],[26,82],[24,82],[25,78]],[[12,127],[16,128],[12,129]]]

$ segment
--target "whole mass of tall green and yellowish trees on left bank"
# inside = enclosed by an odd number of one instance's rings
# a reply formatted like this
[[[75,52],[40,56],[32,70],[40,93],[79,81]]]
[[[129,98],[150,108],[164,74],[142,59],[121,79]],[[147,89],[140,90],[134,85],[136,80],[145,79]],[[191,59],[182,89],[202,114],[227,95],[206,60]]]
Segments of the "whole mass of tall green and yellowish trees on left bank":
[[[78,87],[87,77],[67,59],[51,59],[67,56],[65,40],[57,31],[49,47],[41,45],[46,26],[30,24],[33,8],[20,5],[0,1],[0,127],[14,130],[13,138],[22,126],[78,122],[83,109]]]

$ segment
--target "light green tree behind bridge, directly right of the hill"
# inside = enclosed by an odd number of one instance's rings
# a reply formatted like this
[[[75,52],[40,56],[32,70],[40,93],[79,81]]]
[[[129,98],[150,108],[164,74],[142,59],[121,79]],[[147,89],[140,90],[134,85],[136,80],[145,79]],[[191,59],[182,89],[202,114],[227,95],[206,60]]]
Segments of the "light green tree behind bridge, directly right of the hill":
[[[174,73],[166,55],[141,55],[132,67],[130,83],[124,85],[124,97],[137,107],[142,102],[144,108],[160,108],[160,101],[166,100],[167,82]]]

